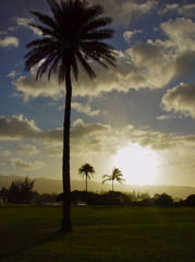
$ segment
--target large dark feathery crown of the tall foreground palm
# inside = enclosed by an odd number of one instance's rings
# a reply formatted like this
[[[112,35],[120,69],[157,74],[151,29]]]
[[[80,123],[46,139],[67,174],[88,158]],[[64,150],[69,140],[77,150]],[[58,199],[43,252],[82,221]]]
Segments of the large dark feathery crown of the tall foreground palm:
[[[59,82],[64,81],[65,70],[71,67],[74,76],[78,78],[80,62],[90,78],[96,73],[89,61],[94,60],[103,67],[107,63],[114,66],[114,52],[111,46],[105,44],[103,39],[113,36],[110,28],[100,28],[111,23],[110,17],[102,17],[103,9],[96,4],[88,7],[82,0],[47,0],[53,19],[39,12],[32,13],[44,24],[29,24],[41,32],[40,38],[27,45],[32,50],[26,53],[26,70],[41,62],[36,78],[44,73],[57,73]]]

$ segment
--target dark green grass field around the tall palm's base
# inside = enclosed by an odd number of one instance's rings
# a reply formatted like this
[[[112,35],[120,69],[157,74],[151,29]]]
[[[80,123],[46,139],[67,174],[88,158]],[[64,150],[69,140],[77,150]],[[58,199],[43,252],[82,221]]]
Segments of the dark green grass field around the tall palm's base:
[[[195,209],[0,205],[1,262],[194,262]]]

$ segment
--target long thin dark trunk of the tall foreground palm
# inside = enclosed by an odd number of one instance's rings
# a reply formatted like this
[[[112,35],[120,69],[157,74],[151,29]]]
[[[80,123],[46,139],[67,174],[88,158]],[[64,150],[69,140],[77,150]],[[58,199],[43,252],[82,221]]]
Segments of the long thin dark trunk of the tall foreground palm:
[[[70,178],[70,128],[71,128],[71,99],[72,83],[70,66],[65,69],[65,111],[63,122],[63,157],[62,157],[62,183],[63,183],[63,210],[62,210],[62,231],[72,231],[71,222],[71,178]]]

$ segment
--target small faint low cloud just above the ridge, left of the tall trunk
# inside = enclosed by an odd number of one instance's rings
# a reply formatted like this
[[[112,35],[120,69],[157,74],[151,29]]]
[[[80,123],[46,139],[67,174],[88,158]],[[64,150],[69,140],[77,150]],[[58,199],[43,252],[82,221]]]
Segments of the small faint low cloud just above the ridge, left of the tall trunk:
[[[12,163],[12,166],[16,168],[22,168],[25,170],[37,170],[46,166],[46,163],[44,162],[32,163],[32,162],[23,160],[19,157],[11,158],[11,163]]]

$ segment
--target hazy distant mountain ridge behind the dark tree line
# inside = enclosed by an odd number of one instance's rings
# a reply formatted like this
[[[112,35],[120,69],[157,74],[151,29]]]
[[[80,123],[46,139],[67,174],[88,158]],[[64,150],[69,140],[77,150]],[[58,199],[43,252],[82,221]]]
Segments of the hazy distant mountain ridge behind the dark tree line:
[[[1,176],[0,175],[0,190],[2,187],[9,188],[13,180],[23,179],[22,176]],[[48,178],[35,178],[34,189],[39,193],[61,193],[62,192],[62,181],[59,179],[48,179]],[[71,190],[85,190],[84,180],[72,180]],[[88,181],[88,191],[108,191],[111,190],[110,183],[102,184],[97,181]],[[115,191],[122,192],[148,192],[150,196],[155,193],[168,193],[172,198],[186,199],[190,194],[195,194],[195,187],[187,186],[136,186],[127,183],[115,183]]]

